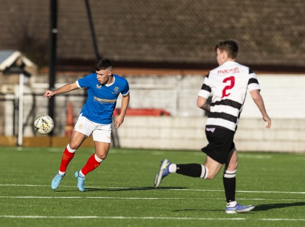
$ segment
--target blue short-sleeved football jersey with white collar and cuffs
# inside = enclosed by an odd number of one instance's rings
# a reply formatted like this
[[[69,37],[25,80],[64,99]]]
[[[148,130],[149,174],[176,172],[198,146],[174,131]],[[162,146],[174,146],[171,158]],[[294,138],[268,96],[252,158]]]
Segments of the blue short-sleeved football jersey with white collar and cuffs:
[[[105,85],[98,82],[96,73],[76,81],[78,87],[87,88],[88,93],[87,101],[80,111],[82,116],[99,124],[111,124],[119,94],[122,93],[125,96],[129,93],[128,81],[119,75],[113,75],[113,77],[114,82]]]

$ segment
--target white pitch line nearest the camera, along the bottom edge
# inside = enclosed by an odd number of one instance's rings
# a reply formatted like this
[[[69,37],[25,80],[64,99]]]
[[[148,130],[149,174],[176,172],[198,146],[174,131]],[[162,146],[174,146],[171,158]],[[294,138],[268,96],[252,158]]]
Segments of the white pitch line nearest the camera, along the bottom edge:
[[[124,217],[124,216],[35,216],[35,215],[0,215],[10,219],[159,219],[159,220],[198,220],[198,221],[305,221],[305,219],[281,218],[243,218],[243,217]]]

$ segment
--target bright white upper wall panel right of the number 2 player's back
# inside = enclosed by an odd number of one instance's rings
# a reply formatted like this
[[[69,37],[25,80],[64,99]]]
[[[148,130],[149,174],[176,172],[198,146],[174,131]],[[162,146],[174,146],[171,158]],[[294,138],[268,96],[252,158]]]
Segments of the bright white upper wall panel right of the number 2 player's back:
[[[305,74],[258,75],[261,95],[270,118],[305,119]],[[261,114],[247,95],[242,116],[260,118]]]

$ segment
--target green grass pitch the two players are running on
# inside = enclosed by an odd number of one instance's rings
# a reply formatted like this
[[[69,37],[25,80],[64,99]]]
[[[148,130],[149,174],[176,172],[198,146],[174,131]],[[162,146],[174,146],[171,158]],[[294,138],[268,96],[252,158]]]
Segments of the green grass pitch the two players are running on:
[[[212,181],[171,174],[159,162],[203,163],[200,151],[110,149],[76,188],[73,173],[94,149],[80,148],[58,190],[63,148],[0,147],[0,226],[305,226],[305,154],[240,152],[236,199],[256,208],[225,213],[222,171]]]

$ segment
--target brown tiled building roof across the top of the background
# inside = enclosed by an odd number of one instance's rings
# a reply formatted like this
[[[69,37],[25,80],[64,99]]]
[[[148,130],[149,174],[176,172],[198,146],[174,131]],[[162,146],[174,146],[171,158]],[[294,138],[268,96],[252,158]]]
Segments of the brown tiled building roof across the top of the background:
[[[117,64],[215,65],[214,44],[230,38],[240,46],[241,64],[305,68],[304,0],[103,0],[89,4],[98,53]],[[0,50],[17,49],[46,64],[49,4],[3,0],[0,14]],[[57,46],[58,64],[96,60],[85,0],[58,1]]]

